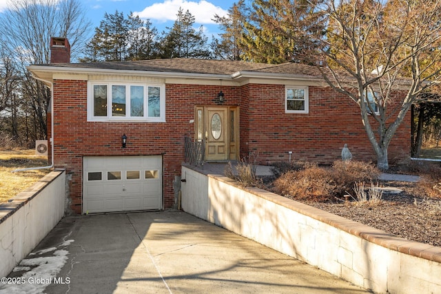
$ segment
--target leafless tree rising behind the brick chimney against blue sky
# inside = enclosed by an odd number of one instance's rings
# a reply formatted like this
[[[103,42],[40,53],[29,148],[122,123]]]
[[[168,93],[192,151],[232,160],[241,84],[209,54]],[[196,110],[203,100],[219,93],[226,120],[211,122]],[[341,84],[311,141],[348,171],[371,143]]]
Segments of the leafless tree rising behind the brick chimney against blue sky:
[[[46,112],[50,92],[41,81],[28,74],[26,67],[32,63],[50,62],[52,36],[68,38],[71,56],[75,59],[83,51],[89,25],[79,0],[9,1],[8,10],[1,14],[1,50],[14,61],[14,78],[19,77],[20,84],[20,92],[14,98],[22,102],[22,109],[14,119],[23,118],[24,109],[32,111],[29,121],[26,121],[36,128],[36,132],[29,140],[45,138],[47,134]],[[10,81],[3,80],[1,83],[8,84]]]

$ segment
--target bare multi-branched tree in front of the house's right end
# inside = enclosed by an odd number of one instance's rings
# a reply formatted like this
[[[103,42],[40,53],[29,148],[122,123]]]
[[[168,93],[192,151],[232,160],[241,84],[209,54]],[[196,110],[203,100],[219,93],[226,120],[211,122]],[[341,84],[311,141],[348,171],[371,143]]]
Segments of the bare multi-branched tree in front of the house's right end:
[[[440,83],[441,3],[327,0],[320,8],[328,26],[316,32],[313,54],[327,83],[360,107],[377,165],[389,169],[389,143],[411,104]]]

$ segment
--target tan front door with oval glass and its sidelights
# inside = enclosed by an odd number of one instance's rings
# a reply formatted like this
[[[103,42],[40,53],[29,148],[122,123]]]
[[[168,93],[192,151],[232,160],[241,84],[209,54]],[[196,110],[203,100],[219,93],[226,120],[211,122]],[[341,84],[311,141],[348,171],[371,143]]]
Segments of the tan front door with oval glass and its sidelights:
[[[236,160],[238,107],[196,108],[196,138],[205,139],[205,160]]]

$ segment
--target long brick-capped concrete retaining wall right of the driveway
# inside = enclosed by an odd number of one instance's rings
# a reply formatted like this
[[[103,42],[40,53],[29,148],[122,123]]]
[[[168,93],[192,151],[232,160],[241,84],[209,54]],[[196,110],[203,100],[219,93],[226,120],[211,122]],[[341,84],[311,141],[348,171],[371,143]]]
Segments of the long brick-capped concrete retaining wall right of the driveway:
[[[183,166],[182,208],[376,293],[441,293],[441,247]]]

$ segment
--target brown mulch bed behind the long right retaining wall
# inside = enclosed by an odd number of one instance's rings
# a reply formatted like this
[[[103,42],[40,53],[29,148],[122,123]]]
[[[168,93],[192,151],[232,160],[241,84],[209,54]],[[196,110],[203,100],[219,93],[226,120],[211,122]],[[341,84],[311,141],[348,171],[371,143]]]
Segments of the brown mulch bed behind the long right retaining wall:
[[[441,198],[421,196],[415,182],[382,182],[382,185],[403,191],[399,194],[383,193],[379,204],[362,204],[354,200],[299,202],[407,240],[441,246]]]

